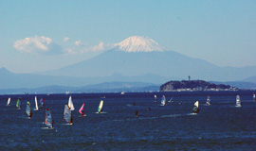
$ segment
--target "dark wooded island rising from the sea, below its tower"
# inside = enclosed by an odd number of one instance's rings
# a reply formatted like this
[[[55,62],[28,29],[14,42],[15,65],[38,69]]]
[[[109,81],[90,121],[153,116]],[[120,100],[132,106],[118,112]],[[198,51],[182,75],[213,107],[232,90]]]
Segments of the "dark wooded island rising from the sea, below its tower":
[[[229,91],[236,88],[224,84],[214,84],[204,80],[169,81],[160,86],[160,92],[171,91]]]

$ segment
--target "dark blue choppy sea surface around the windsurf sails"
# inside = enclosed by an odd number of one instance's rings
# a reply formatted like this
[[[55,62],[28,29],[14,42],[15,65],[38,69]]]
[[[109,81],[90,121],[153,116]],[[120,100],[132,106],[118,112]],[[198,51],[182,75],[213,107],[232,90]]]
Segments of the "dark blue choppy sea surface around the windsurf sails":
[[[256,102],[244,92],[126,92],[37,94],[46,99],[41,110],[35,94],[0,96],[1,150],[255,150]],[[158,101],[155,102],[154,95]],[[242,107],[235,107],[240,94]],[[64,105],[72,95],[74,124],[64,122]],[[167,101],[160,106],[162,95]],[[206,106],[207,95],[211,105]],[[6,106],[11,97],[10,106]],[[16,109],[17,98],[21,109]],[[96,113],[103,100],[103,112]],[[200,112],[192,113],[199,101]],[[86,116],[78,110],[85,103]],[[135,105],[134,105],[135,104]],[[150,108],[150,110],[149,110]],[[50,109],[54,129],[44,124]],[[135,112],[138,112],[136,117]]]

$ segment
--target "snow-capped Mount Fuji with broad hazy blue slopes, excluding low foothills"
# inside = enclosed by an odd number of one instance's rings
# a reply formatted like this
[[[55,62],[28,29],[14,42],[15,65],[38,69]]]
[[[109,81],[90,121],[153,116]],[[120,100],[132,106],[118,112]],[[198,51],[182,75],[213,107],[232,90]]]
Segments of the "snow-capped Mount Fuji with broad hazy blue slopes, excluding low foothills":
[[[185,79],[188,76],[192,76],[193,79],[233,81],[256,76],[256,67],[219,67],[203,59],[192,59],[167,50],[152,39],[133,36],[95,58],[41,74],[101,78],[115,75],[139,76],[140,79],[134,81],[150,80],[153,83],[162,82],[163,77]],[[142,76],[147,81],[143,81]]]

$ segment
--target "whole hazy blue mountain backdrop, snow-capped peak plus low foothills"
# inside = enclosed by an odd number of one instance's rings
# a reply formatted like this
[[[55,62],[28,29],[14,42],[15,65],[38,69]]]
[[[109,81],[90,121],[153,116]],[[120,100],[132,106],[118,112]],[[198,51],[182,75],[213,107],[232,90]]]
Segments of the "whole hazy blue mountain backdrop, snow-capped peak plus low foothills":
[[[2,68],[0,90],[2,92],[158,91],[161,84],[170,80],[187,79],[188,76],[192,79],[220,81],[219,83],[241,89],[256,88],[255,66],[219,67],[203,59],[192,59],[168,51],[152,39],[134,36],[119,42],[115,47],[95,58],[57,70],[14,74]],[[130,87],[126,87],[124,83]],[[158,89],[155,89],[156,87]]]

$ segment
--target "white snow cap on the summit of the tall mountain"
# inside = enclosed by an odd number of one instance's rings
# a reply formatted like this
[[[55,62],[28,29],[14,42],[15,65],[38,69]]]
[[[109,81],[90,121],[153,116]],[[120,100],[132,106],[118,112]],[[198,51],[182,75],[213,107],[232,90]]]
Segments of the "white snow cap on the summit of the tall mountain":
[[[125,52],[152,52],[166,50],[154,40],[142,36],[129,37],[126,40],[119,42],[116,47]]]

